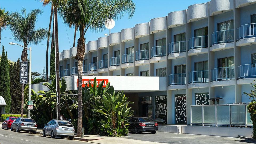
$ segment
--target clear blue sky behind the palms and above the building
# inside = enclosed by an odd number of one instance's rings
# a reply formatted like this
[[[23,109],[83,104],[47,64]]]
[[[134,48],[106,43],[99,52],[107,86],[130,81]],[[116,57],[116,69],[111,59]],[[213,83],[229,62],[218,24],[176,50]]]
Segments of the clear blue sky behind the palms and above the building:
[[[0,8],[5,8],[5,10],[9,12],[20,12],[23,7],[26,8],[26,11],[41,9],[43,10],[43,14],[38,17],[36,28],[48,28],[51,9],[50,6],[43,7],[42,2],[40,1],[41,0],[1,0]],[[120,32],[122,29],[134,27],[138,23],[149,22],[152,18],[164,17],[172,11],[185,10],[190,5],[196,3],[205,3],[207,1],[209,0],[134,0],[136,10],[133,18],[128,19],[128,15],[126,15],[125,17],[116,21],[115,27],[111,29],[111,33]],[[70,49],[70,46],[73,46],[74,29],[69,29],[69,27],[63,23],[60,17],[58,18],[58,26],[59,51],[62,52],[62,50]],[[105,30],[102,33],[87,31],[85,35],[86,42],[97,40],[99,37],[104,37],[104,34],[106,33],[109,33],[109,31]],[[79,32],[77,33],[77,38],[78,35]],[[22,44],[22,42],[8,39],[13,38],[8,28],[6,30],[2,30],[1,36],[1,48],[2,45],[4,45],[8,58],[12,61],[17,61],[17,59],[21,57],[22,48],[17,45],[9,45],[8,43],[16,42]],[[46,66],[45,55],[47,39],[42,41],[41,44],[43,45],[29,45],[32,47],[32,71],[38,71],[39,73],[41,73],[43,68]]]

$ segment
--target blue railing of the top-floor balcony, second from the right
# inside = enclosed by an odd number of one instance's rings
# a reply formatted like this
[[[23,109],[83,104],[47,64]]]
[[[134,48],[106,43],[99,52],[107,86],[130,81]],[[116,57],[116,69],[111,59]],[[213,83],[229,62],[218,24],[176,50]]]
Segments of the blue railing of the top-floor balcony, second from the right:
[[[215,31],[211,35],[211,45],[229,42],[234,42],[234,30]]]

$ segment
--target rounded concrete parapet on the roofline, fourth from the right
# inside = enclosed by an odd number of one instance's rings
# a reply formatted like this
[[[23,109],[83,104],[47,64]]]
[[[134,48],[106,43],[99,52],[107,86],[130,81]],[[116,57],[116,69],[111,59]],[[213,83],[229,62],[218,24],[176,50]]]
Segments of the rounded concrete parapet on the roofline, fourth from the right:
[[[168,29],[186,23],[186,10],[174,11],[168,14]]]

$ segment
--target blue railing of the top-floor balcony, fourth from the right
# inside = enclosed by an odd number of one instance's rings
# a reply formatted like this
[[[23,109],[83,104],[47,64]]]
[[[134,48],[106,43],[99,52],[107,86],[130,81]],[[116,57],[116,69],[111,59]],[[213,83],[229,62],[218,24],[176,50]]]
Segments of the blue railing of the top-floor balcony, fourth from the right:
[[[169,43],[169,54],[186,52],[186,41]]]

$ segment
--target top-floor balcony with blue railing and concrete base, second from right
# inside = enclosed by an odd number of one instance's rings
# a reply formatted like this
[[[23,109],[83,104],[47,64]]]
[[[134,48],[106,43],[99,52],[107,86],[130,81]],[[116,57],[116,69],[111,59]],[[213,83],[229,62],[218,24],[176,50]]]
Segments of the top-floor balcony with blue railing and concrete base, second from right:
[[[210,51],[231,49],[234,47],[234,30],[215,31],[211,35]]]

